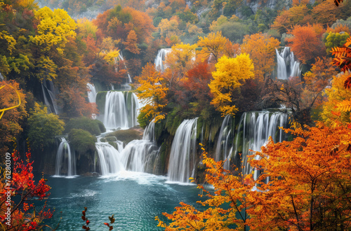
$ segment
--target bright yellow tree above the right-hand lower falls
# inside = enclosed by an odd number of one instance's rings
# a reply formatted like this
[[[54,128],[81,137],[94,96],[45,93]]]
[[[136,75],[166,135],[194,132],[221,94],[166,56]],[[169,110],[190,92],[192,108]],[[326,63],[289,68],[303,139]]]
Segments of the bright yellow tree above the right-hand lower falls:
[[[253,63],[249,55],[241,54],[234,58],[220,57],[213,80],[208,85],[213,94],[213,104],[222,116],[233,115],[238,111],[234,105],[235,94],[245,79],[253,78]]]

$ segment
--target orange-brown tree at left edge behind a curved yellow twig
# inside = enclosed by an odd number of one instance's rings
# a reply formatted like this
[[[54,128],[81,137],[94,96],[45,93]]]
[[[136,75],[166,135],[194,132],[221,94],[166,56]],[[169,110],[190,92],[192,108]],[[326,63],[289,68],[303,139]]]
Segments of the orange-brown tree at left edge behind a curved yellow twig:
[[[14,80],[0,82],[0,144],[1,157],[8,150],[10,142],[20,132],[21,124],[27,117],[25,93]]]

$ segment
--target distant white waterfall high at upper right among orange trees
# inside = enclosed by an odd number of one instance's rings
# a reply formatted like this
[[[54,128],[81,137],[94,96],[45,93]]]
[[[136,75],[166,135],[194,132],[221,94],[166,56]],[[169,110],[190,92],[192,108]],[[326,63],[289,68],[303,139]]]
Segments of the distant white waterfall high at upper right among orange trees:
[[[293,52],[290,51],[289,47],[285,47],[282,52],[277,53],[277,78],[288,79],[293,76],[301,76],[300,63],[295,60]]]

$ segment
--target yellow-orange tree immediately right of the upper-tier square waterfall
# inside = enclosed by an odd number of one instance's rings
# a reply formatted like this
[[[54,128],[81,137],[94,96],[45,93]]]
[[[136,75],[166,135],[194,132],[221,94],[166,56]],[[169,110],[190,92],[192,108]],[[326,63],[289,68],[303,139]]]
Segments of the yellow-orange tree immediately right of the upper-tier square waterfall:
[[[140,76],[136,78],[135,85],[138,86],[138,98],[145,104],[140,109],[138,120],[140,125],[145,127],[151,120],[156,123],[165,118],[166,114],[163,109],[167,105],[168,88],[164,83],[161,73],[154,68],[154,64],[148,63],[143,67]]]

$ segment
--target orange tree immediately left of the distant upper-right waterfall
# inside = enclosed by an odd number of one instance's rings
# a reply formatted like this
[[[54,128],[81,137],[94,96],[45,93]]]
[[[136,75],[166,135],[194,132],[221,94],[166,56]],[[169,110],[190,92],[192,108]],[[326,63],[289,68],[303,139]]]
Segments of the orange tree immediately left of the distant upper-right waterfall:
[[[279,40],[267,34],[251,34],[244,36],[241,52],[250,55],[255,66],[255,78],[263,81],[266,76],[270,76],[275,65],[275,48],[279,47]]]

